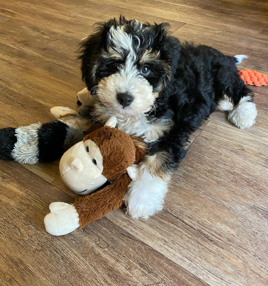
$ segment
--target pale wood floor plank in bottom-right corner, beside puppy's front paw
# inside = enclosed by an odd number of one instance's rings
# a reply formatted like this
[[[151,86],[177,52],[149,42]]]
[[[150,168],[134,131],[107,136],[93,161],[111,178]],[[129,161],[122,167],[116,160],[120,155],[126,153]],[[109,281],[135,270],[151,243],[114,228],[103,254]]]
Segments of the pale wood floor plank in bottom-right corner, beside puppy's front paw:
[[[222,124],[211,120],[191,145],[164,212],[107,217],[209,285],[267,285],[268,142]]]

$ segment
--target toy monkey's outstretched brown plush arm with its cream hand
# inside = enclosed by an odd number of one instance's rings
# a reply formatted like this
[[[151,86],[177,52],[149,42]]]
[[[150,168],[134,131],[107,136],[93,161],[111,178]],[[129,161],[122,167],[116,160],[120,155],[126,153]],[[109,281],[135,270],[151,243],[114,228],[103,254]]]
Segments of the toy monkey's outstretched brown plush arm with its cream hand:
[[[123,204],[130,182],[128,174],[124,174],[103,189],[80,198],[73,205],[61,202],[51,203],[50,213],[44,218],[46,231],[60,236],[104,217]]]

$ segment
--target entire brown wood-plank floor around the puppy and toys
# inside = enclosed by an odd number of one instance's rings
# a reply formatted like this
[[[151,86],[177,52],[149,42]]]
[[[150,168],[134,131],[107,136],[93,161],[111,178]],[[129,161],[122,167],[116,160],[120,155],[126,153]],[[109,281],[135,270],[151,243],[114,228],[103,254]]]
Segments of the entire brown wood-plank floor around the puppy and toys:
[[[268,73],[267,0],[1,0],[0,128],[77,108],[80,39],[118,16],[170,22],[181,40],[246,54]],[[135,220],[119,209],[73,233],[45,232],[54,201],[76,196],[59,162],[0,162],[0,285],[268,285],[268,86],[253,87],[256,124],[238,130],[216,112],[170,185],[162,212]]]

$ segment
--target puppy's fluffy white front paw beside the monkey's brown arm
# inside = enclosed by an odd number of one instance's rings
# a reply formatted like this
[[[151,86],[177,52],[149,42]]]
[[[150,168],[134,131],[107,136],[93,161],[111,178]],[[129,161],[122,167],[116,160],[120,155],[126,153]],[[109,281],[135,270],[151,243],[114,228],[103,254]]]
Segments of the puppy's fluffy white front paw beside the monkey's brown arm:
[[[136,219],[139,217],[147,219],[162,210],[167,183],[153,177],[147,171],[145,164],[138,166],[135,177],[129,184],[124,198],[127,214]]]

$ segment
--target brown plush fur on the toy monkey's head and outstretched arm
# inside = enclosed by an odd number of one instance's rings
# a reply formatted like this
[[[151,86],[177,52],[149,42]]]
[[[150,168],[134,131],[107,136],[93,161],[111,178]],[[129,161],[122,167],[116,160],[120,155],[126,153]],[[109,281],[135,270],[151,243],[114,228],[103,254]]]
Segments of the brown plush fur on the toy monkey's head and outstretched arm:
[[[146,154],[143,144],[135,144],[142,142],[140,138],[131,137],[116,128],[100,128],[84,137],[84,141],[88,139],[100,147],[103,155],[102,174],[110,184],[73,204],[79,213],[81,228],[121,207],[128,184],[131,182],[126,169],[133,163],[140,163]]]

